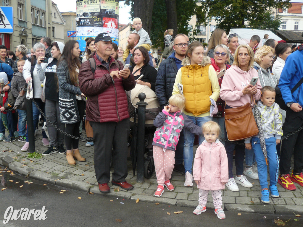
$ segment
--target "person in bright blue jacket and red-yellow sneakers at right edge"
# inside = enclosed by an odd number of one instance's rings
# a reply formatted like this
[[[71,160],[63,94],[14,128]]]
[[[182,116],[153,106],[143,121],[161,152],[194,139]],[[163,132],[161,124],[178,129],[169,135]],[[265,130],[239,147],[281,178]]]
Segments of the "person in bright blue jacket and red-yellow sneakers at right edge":
[[[285,61],[281,72],[279,88],[285,104],[287,105],[286,118],[283,124],[283,136],[292,133],[303,126],[303,84],[293,93],[291,89],[303,77],[303,44],[298,50],[290,54]],[[280,157],[280,176],[278,183],[288,190],[296,190],[293,182],[303,186],[303,130],[285,138],[282,142]],[[291,155],[294,153],[294,169],[291,175]]]

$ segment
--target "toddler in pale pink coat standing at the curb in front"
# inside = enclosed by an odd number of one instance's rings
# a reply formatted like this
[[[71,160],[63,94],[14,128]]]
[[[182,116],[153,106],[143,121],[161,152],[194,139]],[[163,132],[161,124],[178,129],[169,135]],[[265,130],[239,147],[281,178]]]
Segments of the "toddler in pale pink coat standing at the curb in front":
[[[228,182],[228,162],[223,144],[217,139],[220,126],[213,121],[206,122],[203,127],[205,140],[198,147],[194,160],[193,176],[199,188],[199,205],[194,214],[206,211],[207,195],[211,191],[215,214],[225,219],[222,206],[221,189]]]

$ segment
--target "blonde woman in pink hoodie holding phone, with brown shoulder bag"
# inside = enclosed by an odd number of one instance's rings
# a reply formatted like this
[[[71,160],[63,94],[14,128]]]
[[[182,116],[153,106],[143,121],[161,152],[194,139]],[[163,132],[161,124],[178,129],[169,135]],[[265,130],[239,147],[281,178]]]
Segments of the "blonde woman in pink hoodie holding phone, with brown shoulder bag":
[[[254,52],[248,45],[240,45],[235,51],[235,59],[232,66],[225,72],[221,84],[220,97],[226,101],[225,109],[244,106],[251,102],[251,95],[255,100],[261,97],[261,84],[257,81],[255,86],[250,84],[252,77],[258,77],[258,72],[253,68]],[[227,133],[224,130],[225,139]],[[241,141],[238,141],[241,142]],[[245,146],[243,140],[242,145],[225,142],[225,150],[228,157],[228,177],[226,186],[229,190],[237,192],[239,188],[236,183],[244,187],[251,188],[252,184],[243,176],[243,161],[245,154]],[[236,176],[232,174],[232,156],[233,150],[235,154]]]

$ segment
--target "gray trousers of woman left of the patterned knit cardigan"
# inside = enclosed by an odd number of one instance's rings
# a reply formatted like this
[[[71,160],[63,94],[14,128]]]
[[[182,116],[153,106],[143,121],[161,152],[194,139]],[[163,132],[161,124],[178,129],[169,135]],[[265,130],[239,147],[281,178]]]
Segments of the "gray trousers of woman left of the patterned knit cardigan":
[[[52,123],[55,123],[56,126],[63,130],[65,129],[65,124],[60,121],[60,110],[59,110],[59,101],[53,101],[46,99],[45,100],[45,115],[51,120]],[[64,134],[60,131],[57,131],[51,123],[46,121],[48,135],[49,135],[49,145],[51,146],[60,146],[63,145]]]

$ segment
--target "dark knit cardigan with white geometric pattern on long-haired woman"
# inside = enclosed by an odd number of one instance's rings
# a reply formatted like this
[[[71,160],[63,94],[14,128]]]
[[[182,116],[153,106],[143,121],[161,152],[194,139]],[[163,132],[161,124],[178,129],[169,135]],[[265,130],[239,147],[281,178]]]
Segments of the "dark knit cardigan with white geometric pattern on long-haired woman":
[[[59,82],[59,108],[60,120],[65,124],[73,124],[80,121],[76,95],[81,95],[79,87],[72,85],[68,65],[62,60],[57,67]]]

